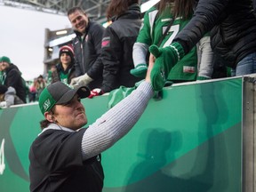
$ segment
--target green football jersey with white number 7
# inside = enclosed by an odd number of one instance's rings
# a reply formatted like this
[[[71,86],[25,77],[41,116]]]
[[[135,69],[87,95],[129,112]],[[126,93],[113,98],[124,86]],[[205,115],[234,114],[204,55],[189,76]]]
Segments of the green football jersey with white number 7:
[[[170,7],[167,8],[170,10]],[[156,7],[153,7],[145,13],[142,26],[140,28],[139,36],[137,37],[137,43],[140,44],[156,44],[159,47],[165,47],[172,44],[174,37],[184,28],[189,20],[182,20],[182,18],[175,18],[173,20],[172,13],[164,12],[161,15],[157,13]],[[159,41],[164,35],[164,31],[172,22],[172,26],[169,29],[161,44]],[[168,80],[179,81],[193,81],[196,80],[197,74],[197,53],[196,46],[188,52],[188,54],[180,60],[171,70]]]

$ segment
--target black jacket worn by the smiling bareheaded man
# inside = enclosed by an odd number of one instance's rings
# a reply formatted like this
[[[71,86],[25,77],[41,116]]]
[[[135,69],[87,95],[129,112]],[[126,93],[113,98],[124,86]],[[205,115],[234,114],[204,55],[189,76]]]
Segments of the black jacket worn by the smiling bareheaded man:
[[[87,73],[94,63],[99,60],[104,29],[100,24],[89,20],[84,39],[82,39],[81,33],[75,31],[76,38],[73,41],[73,46],[76,58],[76,76],[82,76]],[[99,88],[101,84],[102,77],[95,79],[88,86],[93,89]]]

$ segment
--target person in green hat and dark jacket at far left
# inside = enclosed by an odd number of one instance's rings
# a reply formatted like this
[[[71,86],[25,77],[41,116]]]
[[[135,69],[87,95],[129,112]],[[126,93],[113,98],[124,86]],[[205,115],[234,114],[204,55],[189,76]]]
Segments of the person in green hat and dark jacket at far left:
[[[20,100],[26,103],[26,87],[19,68],[13,65],[11,60],[5,56],[0,58],[0,64],[4,71],[4,85],[12,86]]]

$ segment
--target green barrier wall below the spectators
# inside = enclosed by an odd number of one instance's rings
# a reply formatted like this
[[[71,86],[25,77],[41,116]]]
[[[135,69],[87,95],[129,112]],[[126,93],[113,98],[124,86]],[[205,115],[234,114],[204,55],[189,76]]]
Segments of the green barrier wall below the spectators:
[[[242,191],[242,93],[238,77],[164,88],[102,153],[103,191]],[[83,103],[88,124],[108,110],[108,96]],[[1,192],[29,191],[28,151],[43,118],[36,104],[0,110]]]

